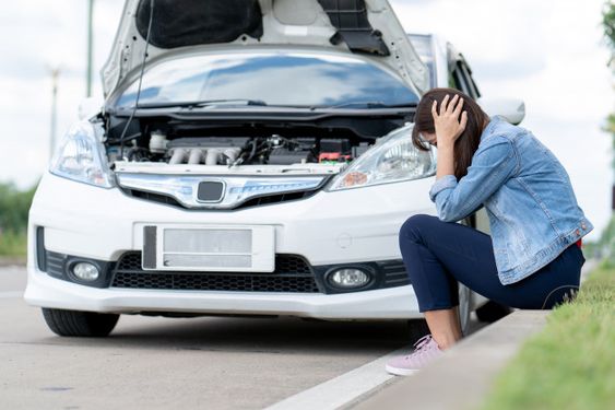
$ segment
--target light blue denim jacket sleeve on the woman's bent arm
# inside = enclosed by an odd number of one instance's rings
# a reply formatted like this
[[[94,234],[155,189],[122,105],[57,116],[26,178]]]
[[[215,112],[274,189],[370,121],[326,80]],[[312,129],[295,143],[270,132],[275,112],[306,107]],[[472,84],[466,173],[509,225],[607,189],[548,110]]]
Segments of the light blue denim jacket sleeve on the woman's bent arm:
[[[454,222],[468,216],[518,169],[519,159],[512,142],[495,136],[489,140],[487,147],[476,151],[465,176],[458,181],[453,175],[445,175],[429,190],[440,220]]]

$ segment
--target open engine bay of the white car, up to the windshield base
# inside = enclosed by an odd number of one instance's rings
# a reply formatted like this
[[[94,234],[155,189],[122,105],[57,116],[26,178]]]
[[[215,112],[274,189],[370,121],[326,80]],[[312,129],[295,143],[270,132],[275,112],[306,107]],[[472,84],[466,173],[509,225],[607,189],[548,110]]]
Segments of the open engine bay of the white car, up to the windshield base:
[[[340,172],[413,116],[407,107],[107,108],[99,118],[111,168],[139,165],[152,173]]]

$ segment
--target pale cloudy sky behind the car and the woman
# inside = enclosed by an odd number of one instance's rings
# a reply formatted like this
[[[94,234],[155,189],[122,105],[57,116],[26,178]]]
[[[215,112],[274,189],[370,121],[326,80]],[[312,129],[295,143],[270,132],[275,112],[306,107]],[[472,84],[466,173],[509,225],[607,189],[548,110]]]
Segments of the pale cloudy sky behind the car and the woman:
[[[615,110],[604,0],[390,0],[407,32],[437,33],[465,56],[484,96],[525,102],[521,124],[560,160],[598,239],[611,216]],[[0,14],[0,181],[36,183],[50,155],[50,69],[60,68],[57,138],[85,96],[86,0],[25,0]],[[94,96],[122,0],[96,0]]]

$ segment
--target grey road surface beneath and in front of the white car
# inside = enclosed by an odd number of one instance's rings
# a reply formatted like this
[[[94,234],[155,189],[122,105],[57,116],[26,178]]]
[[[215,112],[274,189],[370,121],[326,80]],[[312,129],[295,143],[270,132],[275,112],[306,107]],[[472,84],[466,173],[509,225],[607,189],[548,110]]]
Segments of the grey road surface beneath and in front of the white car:
[[[0,409],[262,409],[411,342],[402,321],[229,317],[60,338],[24,289],[25,268],[0,268]]]

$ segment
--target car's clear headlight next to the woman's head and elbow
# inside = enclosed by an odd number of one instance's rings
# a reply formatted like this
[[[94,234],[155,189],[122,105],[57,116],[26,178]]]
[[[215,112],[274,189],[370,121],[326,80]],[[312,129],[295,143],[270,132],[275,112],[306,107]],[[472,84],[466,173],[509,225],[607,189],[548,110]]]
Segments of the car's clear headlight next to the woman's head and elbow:
[[[431,176],[436,172],[434,150],[421,151],[412,143],[407,125],[382,137],[367,152],[336,175],[327,190],[399,183]]]

